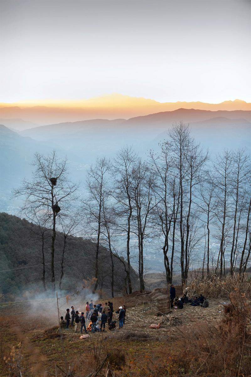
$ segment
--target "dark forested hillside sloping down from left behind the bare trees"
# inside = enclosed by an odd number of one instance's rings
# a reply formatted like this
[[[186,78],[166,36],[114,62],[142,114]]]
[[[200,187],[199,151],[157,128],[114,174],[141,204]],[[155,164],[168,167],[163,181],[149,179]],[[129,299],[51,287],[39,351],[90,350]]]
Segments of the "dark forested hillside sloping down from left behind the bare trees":
[[[51,231],[41,228],[25,219],[0,213],[0,291],[6,300],[16,297],[45,296],[51,292],[50,257]],[[43,245],[44,241],[44,245]],[[75,293],[85,286],[91,290],[91,281],[95,275],[96,245],[81,237],[66,238],[64,249],[64,234],[57,232],[55,242],[55,282],[56,289],[65,293]],[[43,250],[44,250],[44,280],[43,284]],[[64,251],[63,276],[62,252]],[[114,293],[119,295],[124,290],[125,268],[119,259],[114,262]],[[137,275],[131,270],[132,284],[137,288]],[[99,254],[99,285],[97,294],[111,292],[111,259],[105,248],[100,248]]]

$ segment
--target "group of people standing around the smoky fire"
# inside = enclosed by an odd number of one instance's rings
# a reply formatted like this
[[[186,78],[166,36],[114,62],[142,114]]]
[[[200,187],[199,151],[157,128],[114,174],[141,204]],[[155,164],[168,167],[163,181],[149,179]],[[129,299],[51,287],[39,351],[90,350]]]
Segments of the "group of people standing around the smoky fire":
[[[95,331],[105,331],[105,325],[108,323],[108,328],[110,330],[114,330],[116,328],[116,321],[113,320],[113,303],[108,301],[102,306],[102,303],[93,304],[93,300],[90,303],[87,301],[85,306],[85,316],[84,312],[79,313],[78,310],[75,311],[75,308],[71,307],[70,309],[66,309],[65,319],[64,317],[60,318],[60,326],[65,329],[69,329],[69,325],[74,326],[75,333],[78,332],[80,326],[80,333],[82,334],[83,328],[85,333],[87,334],[88,331],[91,333],[95,333]],[[123,328],[125,325],[125,315],[126,315],[126,307],[125,305],[120,306],[115,313],[119,314],[119,329]],[[101,317],[99,317],[101,314]],[[85,320],[89,320],[88,327],[86,327]],[[99,323],[100,322],[100,323]]]

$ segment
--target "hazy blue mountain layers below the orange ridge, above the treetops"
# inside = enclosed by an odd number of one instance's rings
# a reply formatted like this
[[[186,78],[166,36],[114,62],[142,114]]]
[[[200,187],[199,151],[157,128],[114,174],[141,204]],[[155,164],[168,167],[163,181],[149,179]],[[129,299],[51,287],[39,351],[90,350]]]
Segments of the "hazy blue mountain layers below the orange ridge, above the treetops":
[[[1,111],[2,113],[2,111]],[[175,122],[189,123],[192,135],[212,157],[222,150],[246,147],[250,150],[251,110],[178,109],[129,118],[65,121],[38,126],[26,119],[2,118],[0,123],[1,196],[0,210],[15,213],[17,203],[11,191],[21,179],[29,178],[33,154],[47,154],[56,149],[67,155],[74,181],[84,181],[86,170],[97,156],[113,158],[123,146],[132,145],[144,158],[150,149],[167,139]],[[12,208],[13,207],[13,208]]]

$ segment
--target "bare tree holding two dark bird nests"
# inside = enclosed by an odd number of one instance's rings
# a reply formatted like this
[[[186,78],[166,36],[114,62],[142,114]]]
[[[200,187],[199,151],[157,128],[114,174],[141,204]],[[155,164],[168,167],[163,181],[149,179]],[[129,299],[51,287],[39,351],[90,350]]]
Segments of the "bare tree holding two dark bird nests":
[[[52,229],[51,282],[52,294],[55,294],[56,219],[59,211],[67,212],[69,202],[76,198],[78,184],[70,181],[67,159],[58,158],[55,150],[47,156],[35,153],[32,165],[35,167],[32,180],[23,179],[22,186],[14,191],[14,196],[24,196],[23,212],[33,208],[36,212],[45,213],[50,219]]]

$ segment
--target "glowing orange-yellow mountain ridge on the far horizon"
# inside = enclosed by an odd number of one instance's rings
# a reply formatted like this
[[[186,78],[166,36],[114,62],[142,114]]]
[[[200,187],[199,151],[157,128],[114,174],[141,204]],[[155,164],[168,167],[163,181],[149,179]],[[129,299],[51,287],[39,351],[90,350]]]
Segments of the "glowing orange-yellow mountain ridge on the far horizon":
[[[130,97],[121,94],[105,95],[78,101],[32,101],[13,104],[0,104],[1,117],[21,118],[38,124],[62,123],[96,118],[129,119],[150,113],[174,111],[180,108],[210,111],[250,111],[251,103],[242,100],[224,101],[219,104],[203,102],[165,102]],[[30,127],[27,127],[30,128]]]

